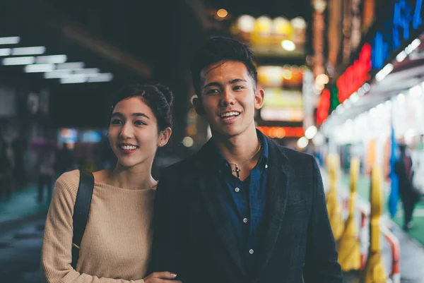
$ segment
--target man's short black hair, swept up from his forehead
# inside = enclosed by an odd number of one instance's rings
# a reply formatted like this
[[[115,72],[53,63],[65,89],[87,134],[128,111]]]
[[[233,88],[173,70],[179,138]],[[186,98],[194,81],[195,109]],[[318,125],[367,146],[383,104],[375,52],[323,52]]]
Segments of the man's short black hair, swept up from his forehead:
[[[200,97],[200,73],[212,64],[220,61],[238,61],[245,64],[249,75],[254,80],[254,87],[257,87],[258,73],[252,60],[252,49],[247,44],[238,42],[228,37],[213,37],[205,42],[196,51],[192,59],[192,79],[194,90]]]

